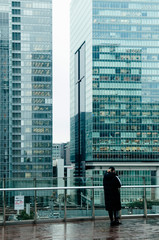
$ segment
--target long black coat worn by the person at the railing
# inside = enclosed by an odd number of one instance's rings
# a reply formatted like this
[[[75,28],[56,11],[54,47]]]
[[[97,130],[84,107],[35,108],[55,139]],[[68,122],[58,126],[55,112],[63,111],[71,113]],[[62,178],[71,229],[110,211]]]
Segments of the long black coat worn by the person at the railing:
[[[113,172],[106,172],[103,178],[105,209],[107,211],[121,210],[120,191],[121,182]]]

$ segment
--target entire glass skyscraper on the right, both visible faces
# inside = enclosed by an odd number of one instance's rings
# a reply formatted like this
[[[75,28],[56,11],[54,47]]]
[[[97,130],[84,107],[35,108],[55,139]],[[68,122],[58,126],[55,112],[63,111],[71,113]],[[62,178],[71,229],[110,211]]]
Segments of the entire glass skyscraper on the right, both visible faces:
[[[159,2],[72,0],[71,161],[159,175]],[[135,180],[134,180],[135,181]]]

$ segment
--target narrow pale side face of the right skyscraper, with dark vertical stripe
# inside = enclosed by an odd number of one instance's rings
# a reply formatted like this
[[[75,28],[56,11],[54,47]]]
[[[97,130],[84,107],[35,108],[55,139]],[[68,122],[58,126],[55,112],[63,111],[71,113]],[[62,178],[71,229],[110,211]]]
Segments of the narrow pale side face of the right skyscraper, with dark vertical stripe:
[[[83,174],[85,159],[91,159],[92,155],[91,6],[90,0],[71,3],[70,159],[75,162],[76,175]]]

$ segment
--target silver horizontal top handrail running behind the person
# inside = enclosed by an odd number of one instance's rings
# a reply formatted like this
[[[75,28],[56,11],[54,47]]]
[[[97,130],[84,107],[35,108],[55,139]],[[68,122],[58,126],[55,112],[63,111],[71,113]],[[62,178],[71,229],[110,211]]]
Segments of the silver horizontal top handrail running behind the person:
[[[159,188],[159,185],[128,185],[121,188]],[[32,188],[0,188],[2,191],[40,191],[40,190],[74,190],[74,189],[103,189],[103,186],[74,186],[74,187],[32,187]]]

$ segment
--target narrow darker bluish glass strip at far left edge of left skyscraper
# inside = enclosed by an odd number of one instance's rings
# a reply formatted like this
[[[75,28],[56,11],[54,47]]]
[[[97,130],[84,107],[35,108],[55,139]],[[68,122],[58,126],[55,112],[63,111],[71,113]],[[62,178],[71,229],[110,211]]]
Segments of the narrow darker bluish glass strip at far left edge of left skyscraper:
[[[9,14],[0,10],[0,178],[9,177]]]

